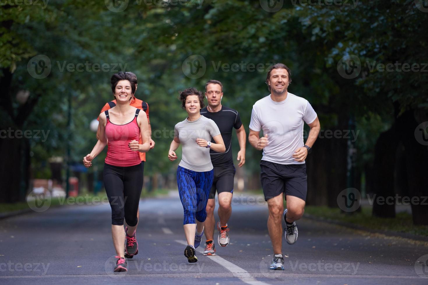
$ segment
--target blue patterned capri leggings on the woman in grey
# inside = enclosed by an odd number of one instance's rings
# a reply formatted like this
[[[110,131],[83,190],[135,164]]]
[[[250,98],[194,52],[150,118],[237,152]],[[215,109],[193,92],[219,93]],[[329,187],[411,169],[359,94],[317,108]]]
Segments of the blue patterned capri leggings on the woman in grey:
[[[177,185],[184,209],[183,225],[205,222],[208,196],[213,184],[214,170],[197,172],[178,166]]]

